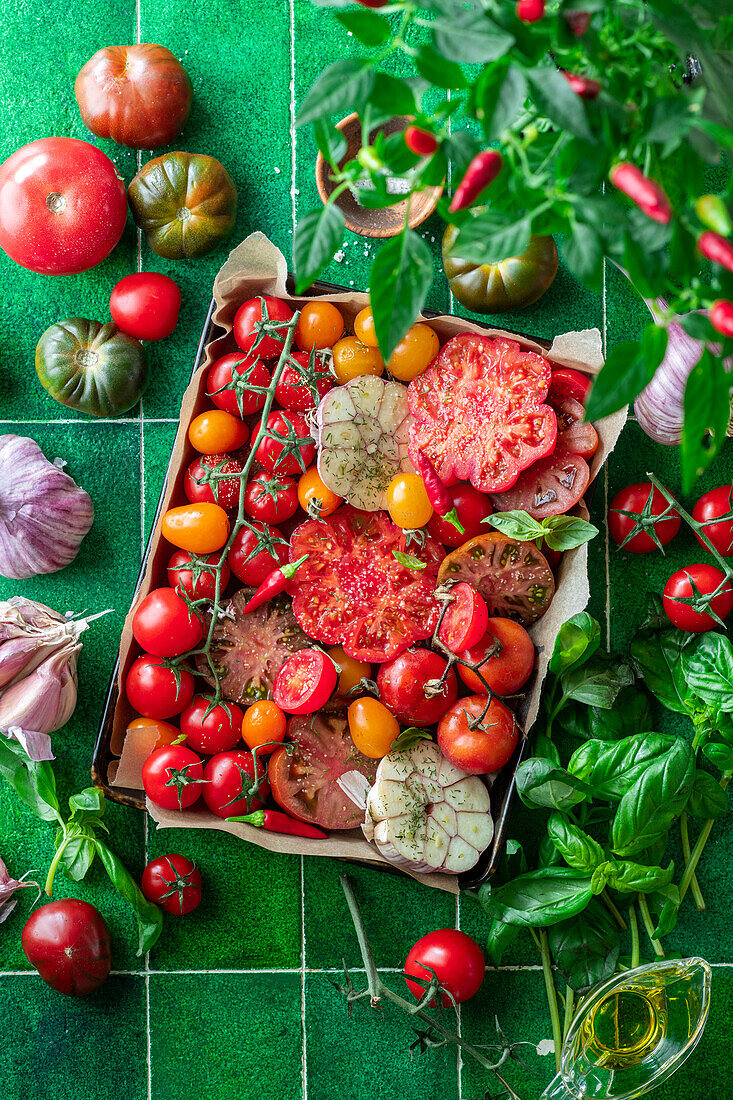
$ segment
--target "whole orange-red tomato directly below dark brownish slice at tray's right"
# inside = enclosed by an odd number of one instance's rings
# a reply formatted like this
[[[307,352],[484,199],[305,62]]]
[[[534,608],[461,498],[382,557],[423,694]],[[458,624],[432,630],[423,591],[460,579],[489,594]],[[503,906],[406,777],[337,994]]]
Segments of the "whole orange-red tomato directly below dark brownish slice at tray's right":
[[[497,695],[513,695],[532,675],[535,644],[513,619],[490,618],[481,640],[459,652],[459,657],[470,664],[480,663],[479,672],[486,683],[472,669],[458,666],[459,676],[471,691],[485,694],[489,684]]]

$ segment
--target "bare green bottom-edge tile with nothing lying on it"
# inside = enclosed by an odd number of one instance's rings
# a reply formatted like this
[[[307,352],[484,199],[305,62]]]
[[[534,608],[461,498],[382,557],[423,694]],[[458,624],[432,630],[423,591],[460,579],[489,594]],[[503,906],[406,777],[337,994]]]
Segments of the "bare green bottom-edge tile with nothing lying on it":
[[[299,975],[151,976],[152,1100],[299,1100],[300,997]]]

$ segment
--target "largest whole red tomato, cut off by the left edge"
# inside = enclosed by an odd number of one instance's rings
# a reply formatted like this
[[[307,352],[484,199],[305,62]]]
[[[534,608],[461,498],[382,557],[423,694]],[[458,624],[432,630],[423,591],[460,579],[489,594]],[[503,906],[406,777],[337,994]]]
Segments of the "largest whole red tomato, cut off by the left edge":
[[[122,235],[124,184],[108,156],[76,138],[42,138],[0,165],[0,248],[42,275],[77,275]]]

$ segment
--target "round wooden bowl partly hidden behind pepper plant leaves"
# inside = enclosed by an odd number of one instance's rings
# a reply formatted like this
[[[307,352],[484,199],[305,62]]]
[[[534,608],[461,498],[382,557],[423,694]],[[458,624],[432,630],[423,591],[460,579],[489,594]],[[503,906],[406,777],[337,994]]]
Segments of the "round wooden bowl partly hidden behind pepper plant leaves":
[[[391,119],[385,122],[384,125],[378,127],[370,134],[370,138],[379,132],[385,134],[400,133],[407,129],[412,119],[409,118],[397,118]],[[359,150],[361,148],[361,119],[354,112],[353,114],[348,114],[346,119],[341,119],[337,123],[337,130],[340,130],[347,140],[347,151],[343,157],[339,162],[339,167],[347,161],[353,160]],[[331,175],[330,164],[324,160],[322,155],[319,153],[316,157],[316,187],[318,188],[318,194],[320,196],[321,202],[326,204],[329,196],[333,190],[333,183],[330,179]],[[396,179],[395,184],[402,185],[404,180]],[[390,187],[390,180],[387,180],[387,188]],[[394,206],[384,207],[381,210],[368,210],[365,207],[359,205],[354,191],[358,188],[349,188],[342,191],[336,200],[336,205],[343,213],[346,219],[347,229],[350,229],[352,233],[359,233],[361,237],[396,237],[397,233],[402,232],[402,228],[405,224],[405,212],[407,210],[406,199],[397,199]],[[395,193],[397,194],[397,193]],[[423,222],[430,217],[435,210],[438,199],[442,195],[442,186],[427,187],[424,191],[419,191],[417,195],[413,196],[409,206],[409,228],[416,229],[417,226],[422,226]]]

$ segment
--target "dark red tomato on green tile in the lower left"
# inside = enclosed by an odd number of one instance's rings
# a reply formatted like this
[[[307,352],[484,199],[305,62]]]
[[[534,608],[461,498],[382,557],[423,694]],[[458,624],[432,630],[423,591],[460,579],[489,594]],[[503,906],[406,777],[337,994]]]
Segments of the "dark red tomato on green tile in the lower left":
[[[94,993],[112,965],[105,917],[78,898],[52,901],[31,913],[21,945],[45,983],[68,997]]]

